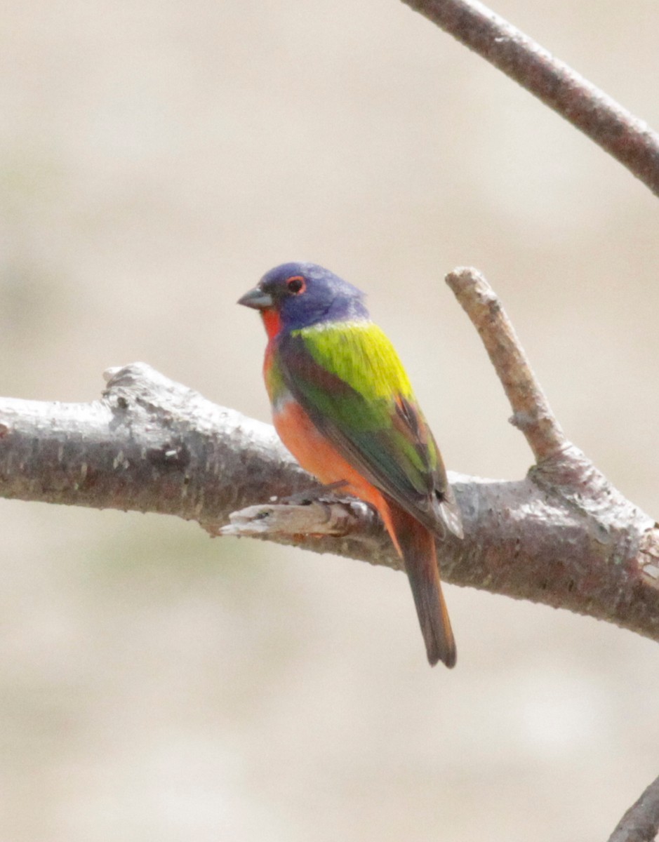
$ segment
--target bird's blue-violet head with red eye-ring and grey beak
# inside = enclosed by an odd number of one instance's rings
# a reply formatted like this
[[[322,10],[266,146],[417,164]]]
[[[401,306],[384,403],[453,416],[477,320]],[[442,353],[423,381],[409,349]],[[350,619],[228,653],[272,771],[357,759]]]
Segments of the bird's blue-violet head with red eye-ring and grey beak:
[[[267,272],[238,304],[260,310],[272,336],[281,328],[308,328],[320,322],[367,319],[364,294],[329,269],[289,263]],[[270,318],[268,318],[270,316]]]

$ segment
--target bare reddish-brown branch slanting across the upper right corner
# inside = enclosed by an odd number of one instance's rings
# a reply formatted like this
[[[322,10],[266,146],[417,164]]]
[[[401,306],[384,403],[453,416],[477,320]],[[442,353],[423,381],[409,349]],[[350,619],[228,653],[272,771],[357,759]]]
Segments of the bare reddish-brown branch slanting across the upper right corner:
[[[659,195],[659,135],[476,0],[403,0],[584,132]]]

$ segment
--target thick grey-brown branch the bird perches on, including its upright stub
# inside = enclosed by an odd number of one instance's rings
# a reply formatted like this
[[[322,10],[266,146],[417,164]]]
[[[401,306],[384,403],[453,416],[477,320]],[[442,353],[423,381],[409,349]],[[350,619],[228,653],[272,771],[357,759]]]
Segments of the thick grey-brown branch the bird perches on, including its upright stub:
[[[443,578],[659,640],[654,521],[565,440],[485,280],[469,269],[449,280],[490,347],[538,464],[518,482],[450,475],[466,535],[439,547]],[[367,505],[330,496],[273,504],[319,487],[269,425],[148,365],[108,378],[103,399],[89,404],[0,399],[1,496],[175,514],[212,535],[255,535],[400,568]]]

